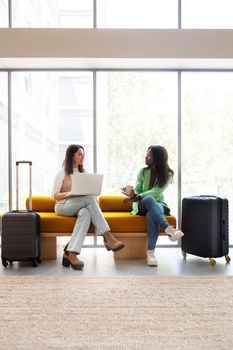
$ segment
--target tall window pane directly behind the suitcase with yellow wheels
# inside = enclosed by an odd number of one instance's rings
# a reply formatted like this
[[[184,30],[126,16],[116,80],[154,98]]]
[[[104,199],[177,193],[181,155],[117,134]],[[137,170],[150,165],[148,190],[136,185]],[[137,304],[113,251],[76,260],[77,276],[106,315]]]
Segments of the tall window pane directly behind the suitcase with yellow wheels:
[[[182,73],[182,196],[228,198],[231,229],[232,154],[233,73]]]

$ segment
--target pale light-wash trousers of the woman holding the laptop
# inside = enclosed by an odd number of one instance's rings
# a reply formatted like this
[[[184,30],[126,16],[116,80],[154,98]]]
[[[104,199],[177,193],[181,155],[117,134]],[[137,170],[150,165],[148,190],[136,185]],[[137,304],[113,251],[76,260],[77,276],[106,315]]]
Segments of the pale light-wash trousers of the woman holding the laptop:
[[[77,216],[67,250],[80,253],[90,223],[95,227],[95,233],[102,235],[110,231],[95,196],[77,196],[68,198],[65,203],[55,205],[55,213],[61,216]]]

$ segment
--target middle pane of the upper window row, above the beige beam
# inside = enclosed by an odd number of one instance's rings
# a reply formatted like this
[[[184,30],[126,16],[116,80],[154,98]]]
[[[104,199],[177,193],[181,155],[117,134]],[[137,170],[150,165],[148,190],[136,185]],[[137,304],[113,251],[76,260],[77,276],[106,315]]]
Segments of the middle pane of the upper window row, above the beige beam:
[[[177,28],[177,0],[97,0],[99,28]]]

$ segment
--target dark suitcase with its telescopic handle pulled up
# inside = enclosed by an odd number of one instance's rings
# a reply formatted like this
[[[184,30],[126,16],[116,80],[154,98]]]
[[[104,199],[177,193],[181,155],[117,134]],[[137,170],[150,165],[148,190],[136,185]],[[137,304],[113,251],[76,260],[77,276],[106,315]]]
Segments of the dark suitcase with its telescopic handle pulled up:
[[[19,210],[18,167],[21,163],[29,164],[29,210]],[[41,262],[40,259],[40,216],[32,211],[31,191],[32,162],[16,162],[16,210],[2,217],[2,264],[8,262],[30,261],[33,267]]]

